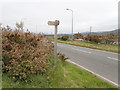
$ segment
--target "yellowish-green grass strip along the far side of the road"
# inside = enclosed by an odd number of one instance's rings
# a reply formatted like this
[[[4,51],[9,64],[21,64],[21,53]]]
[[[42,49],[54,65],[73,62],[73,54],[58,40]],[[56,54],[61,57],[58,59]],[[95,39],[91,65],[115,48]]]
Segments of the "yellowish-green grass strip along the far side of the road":
[[[99,50],[104,50],[104,51],[120,53],[120,51],[118,51],[118,45],[97,44],[94,42],[78,41],[78,40],[73,40],[73,41],[72,40],[68,40],[68,41],[58,40],[58,42],[65,43],[65,44],[71,44],[71,45],[75,45],[75,46],[80,46],[80,47],[87,47],[87,48],[92,48],[92,49],[99,49]]]

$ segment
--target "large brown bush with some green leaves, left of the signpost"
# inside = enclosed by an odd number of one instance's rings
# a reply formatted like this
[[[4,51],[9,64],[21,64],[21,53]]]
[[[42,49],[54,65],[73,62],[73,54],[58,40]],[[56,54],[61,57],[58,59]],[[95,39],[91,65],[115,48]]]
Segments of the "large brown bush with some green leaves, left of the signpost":
[[[15,80],[27,80],[29,74],[46,72],[46,59],[53,51],[47,37],[3,28],[2,38],[3,73],[10,73]]]

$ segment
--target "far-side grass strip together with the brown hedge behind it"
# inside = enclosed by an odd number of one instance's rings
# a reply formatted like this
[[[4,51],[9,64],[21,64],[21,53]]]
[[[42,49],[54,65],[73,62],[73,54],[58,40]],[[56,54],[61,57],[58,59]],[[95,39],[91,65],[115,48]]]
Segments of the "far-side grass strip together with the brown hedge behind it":
[[[71,45],[76,45],[76,46],[81,46],[81,47],[87,47],[87,48],[93,48],[93,49],[99,49],[99,50],[104,50],[104,51],[110,51],[110,52],[115,52],[118,53],[118,35],[115,34],[97,34],[97,35],[83,35],[81,33],[76,33],[74,34],[74,39],[81,39],[80,40],[69,40],[69,39],[63,39],[62,36],[61,38],[58,39],[58,42],[60,43],[66,43],[66,44],[71,44]],[[69,37],[69,36],[67,36]],[[116,43],[116,44],[114,44]]]

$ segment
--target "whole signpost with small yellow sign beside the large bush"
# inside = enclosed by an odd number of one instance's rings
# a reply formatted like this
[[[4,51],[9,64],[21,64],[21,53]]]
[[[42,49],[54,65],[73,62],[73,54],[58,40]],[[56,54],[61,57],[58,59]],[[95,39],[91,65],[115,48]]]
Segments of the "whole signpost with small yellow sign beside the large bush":
[[[59,21],[48,21],[48,25],[55,26],[55,34],[54,34],[54,64],[56,64],[57,61],[57,26],[59,25]]]

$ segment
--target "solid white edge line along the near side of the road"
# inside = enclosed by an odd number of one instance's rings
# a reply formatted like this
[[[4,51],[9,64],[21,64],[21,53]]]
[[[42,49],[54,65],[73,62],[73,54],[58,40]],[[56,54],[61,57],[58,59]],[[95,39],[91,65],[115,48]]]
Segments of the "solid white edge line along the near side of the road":
[[[109,80],[109,79],[107,79],[107,78],[105,78],[105,77],[103,77],[103,76],[101,76],[101,75],[99,75],[99,74],[97,74],[97,73],[95,73],[95,72],[93,72],[93,71],[91,71],[91,70],[89,70],[89,69],[87,69],[87,68],[85,68],[85,67],[83,67],[83,66],[81,66],[81,65],[79,65],[79,64],[77,64],[77,63],[75,63],[75,62],[73,62],[73,61],[71,61],[71,60],[66,60],[66,61],[68,61],[68,62],[70,62],[70,63],[73,63],[73,64],[79,66],[80,68],[82,68],[82,69],[84,69],[84,70],[86,70],[86,71],[88,71],[88,72],[91,72],[92,74],[94,74],[94,75],[96,75],[96,76],[98,76],[98,77],[100,77],[100,78],[102,78],[102,79],[104,79],[104,80],[106,80],[106,81],[108,81],[108,82],[110,82],[110,83],[118,86],[117,83],[115,83],[115,82],[113,82],[113,81],[111,81],[111,80]]]

